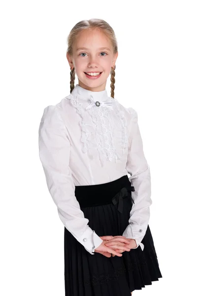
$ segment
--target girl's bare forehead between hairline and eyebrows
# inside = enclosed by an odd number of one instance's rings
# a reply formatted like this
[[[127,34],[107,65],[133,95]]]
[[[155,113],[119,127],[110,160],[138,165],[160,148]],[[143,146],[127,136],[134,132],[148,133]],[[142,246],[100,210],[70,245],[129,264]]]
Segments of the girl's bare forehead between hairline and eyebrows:
[[[109,37],[107,37],[102,31],[98,29],[92,30],[83,30],[78,33],[74,49],[80,50],[83,49],[106,49],[112,50],[112,45]]]

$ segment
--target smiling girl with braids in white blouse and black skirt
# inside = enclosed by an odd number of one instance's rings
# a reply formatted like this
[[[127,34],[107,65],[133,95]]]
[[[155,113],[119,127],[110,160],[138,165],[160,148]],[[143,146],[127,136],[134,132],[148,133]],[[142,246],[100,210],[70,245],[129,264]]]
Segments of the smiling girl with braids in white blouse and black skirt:
[[[65,225],[65,295],[130,296],[162,278],[137,112],[114,98],[118,47],[109,24],[80,21],[67,41],[70,94],[44,109],[39,126],[39,157]]]

